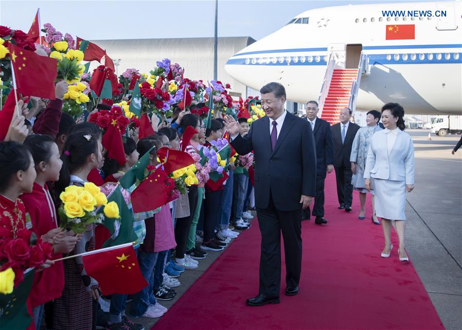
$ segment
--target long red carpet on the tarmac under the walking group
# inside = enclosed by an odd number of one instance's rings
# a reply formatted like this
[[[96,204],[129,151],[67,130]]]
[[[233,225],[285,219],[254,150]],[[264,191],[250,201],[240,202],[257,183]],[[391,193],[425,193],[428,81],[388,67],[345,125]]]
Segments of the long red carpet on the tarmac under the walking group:
[[[357,192],[352,212],[337,209],[333,173],[326,180],[325,195],[329,223],[315,225],[313,217],[302,223],[299,295],[284,295],[283,261],[281,303],[245,304],[258,294],[261,236],[253,221],[153,328],[444,328],[412,263],[398,261],[395,232],[390,258],[380,258],[383,234],[381,226],[371,222],[370,196],[367,217],[361,221]]]

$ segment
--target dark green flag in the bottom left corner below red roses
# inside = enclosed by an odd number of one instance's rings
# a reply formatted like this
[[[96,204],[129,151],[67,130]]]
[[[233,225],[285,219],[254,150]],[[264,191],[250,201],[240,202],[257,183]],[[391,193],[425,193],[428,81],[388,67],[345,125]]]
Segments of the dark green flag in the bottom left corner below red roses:
[[[29,268],[24,274],[23,282],[9,295],[0,294],[0,328],[24,330],[32,317],[27,312],[26,300],[29,297],[35,270]]]

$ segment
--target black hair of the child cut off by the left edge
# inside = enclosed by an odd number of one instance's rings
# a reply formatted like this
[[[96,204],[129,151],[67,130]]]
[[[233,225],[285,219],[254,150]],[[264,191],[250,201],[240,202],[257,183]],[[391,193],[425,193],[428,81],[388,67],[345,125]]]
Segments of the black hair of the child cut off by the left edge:
[[[17,171],[27,171],[30,166],[29,148],[14,141],[0,142],[0,191],[10,184]]]

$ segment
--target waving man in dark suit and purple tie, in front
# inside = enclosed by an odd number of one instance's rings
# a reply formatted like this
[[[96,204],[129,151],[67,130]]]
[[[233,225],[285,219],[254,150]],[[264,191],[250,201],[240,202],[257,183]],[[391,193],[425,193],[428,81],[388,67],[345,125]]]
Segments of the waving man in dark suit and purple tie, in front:
[[[239,125],[226,117],[231,144],[239,154],[254,151],[255,206],[261,231],[260,287],[251,306],[279,303],[281,231],[284,238],[285,294],[298,294],[301,272],[301,213],[316,191],[316,151],[310,124],[284,109],[285,88],[269,83],[260,89],[266,116],[241,137]]]

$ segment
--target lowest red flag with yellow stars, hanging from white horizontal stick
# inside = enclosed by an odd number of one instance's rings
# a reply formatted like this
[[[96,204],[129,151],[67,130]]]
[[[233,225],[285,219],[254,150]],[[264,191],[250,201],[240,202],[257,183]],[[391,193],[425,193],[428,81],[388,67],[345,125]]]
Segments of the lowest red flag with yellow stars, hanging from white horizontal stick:
[[[132,243],[91,251],[82,259],[85,271],[98,281],[105,296],[136,294],[148,285]]]

